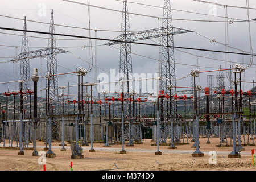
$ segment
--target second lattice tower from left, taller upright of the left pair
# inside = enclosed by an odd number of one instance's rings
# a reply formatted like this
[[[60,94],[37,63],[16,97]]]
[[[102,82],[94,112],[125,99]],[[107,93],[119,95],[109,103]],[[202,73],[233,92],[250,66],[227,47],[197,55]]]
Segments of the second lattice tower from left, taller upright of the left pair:
[[[53,19],[53,10],[51,13],[51,22],[49,27],[49,35],[48,40],[48,48],[50,48],[50,55],[47,56],[47,73],[50,74],[57,74],[57,55],[54,53],[56,47],[56,38],[55,35],[55,26],[54,26],[54,19]],[[48,88],[48,81],[49,81],[49,88]],[[52,99],[52,105],[55,106],[55,112],[57,111],[56,105],[59,101],[59,92],[58,92],[58,77],[53,76],[53,79],[46,80],[46,87],[49,89],[49,97]]]

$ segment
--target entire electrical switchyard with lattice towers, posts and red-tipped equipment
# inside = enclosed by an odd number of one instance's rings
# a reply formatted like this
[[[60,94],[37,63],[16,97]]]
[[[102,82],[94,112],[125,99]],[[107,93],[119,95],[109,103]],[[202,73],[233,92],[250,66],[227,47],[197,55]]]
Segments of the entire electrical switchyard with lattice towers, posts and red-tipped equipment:
[[[19,148],[19,155],[24,155],[26,149],[33,149],[32,155],[38,156],[36,141],[40,140],[45,142],[46,156],[54,158],[56,154],[52,151],[51,144],[55,140],[60,142],[63,152],[67,148],[65,146],[70,144],[71,159],[84,158],[82,146],[88,146],[89,143],[89,152],[95,151],[94,143],[102,143],[103,147],[121,144],[120,154],[126,154],[125,147],[143,144],[146,130],[152,131],[148,138],[152,139],[151,146],[156,146],[155,155],[162,155],[159,146],[168,146],[168,149],[175,150],[180,145],[191,144],[191,148],[195,149],[193,157],[204,156],[201,151],[203,149],[200,148],[200,137],[207,137],[207,144],[210,144],[212,137],[220,138],[216,147],[232,147],[228,158],[240,158],[240,152],[245,146],[254,146],[256,93],[242,90],[242,84],[246,81],[242,80],[241,74],[247,68],[233,64],[226,69],[220,66],[218,69],[200,71],[197,65],[197,69],[191,69],[187,75],[176,78],[174,35],[193,31],[173,26],[171,1],[164,0],[162,27],[138,32],[130,31],[126,0],[122,7],[121,34],[105,44],[120,44],[119,73],[122,76],[118,84],[121,89],[113,94],[105,90],[98,96],[93,96],[93,86],[104,83],[88,82],[87,74],[90,69],[76,67],[72,72],[58,73],[57,54],[68,51],[56,46],[53,10],[49,23],[48,46],[44,49],[28,50],[25,17],[21,53],[11,60],[20,61],[20,80],[14,81],[19,82],[20,88],[4,92],[5,101],[0,104],[2,147]],[[149,93],[136,93],[133,84],[138,80],[130,77],[133,73],[131,45],[155,38],[160,39],[160,45],[156,46],[161,47],[159,75],[148,80],[158,82],[157,92],[153,96]],[[47,57],[45,76],[39,77],[37,69],[30,75],[29,61],[37,57]],[[199,56],[197,59],[199,60]],[[224,71],[229,74],[229,86],[226,88]],[[58,77],[74,74],[77,76],[76,85],[68,82],[67,86],[59,87]],[[176,81],[189,77],[190,86],[177,85]],[[206,77],[207,87],[202,88],[200,84]],[[39,78],[46,80],[45,97],[40,100],[37,96]],[[31,79],[34,83],[33,89]],[[1,84],[7,83],[10,82]],[[71,94],[71,87],[77,88],[77,94]],[[180,94],[177,88],[188,90]],[[71,100],[71,97],[76,99]],[[245,107],[249,114],[246,114]],[[249,142],[249,138],[246,143],[246,134],[248,137],[250,135],[253,143]],[[6,145],[8,140],[9,146]],[[32,148],[29,147],[31,142]]]

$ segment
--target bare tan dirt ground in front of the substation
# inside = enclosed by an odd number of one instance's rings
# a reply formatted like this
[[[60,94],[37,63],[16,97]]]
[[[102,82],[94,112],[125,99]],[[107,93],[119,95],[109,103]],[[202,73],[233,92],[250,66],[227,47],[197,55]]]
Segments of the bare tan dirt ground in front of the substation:
[[[247,136],[246,136],[247,137]],[[83,146],[84,159],[71,160],[71,150],[68,146],[67,151],[61,152],[59,142],[52,143],[52,151],[55,152],[56,158],[46,158],[46,170],[59,171],[70,170],[69,164],[73,162],[73,171],[79,170],[253,170],[256,168],[251,164],[251,149],[256,146],[245,146],[245,151],[241,152],[242,158],[228,159],[228,154],[232,151],[232,147],[215,147],[218,144],[218,138],[210,138],[211,144],[206,144],[207,138],[200,138],[200,151],[204,153],[204,157],[192,158],[191,154],[195,149],[191,148],[193,142],[189,139],[190,144],[177,145],[177,149],[170,150],[168,146],[160,146],[162,155],[155,155],[156,146],[150,146],[150,139],[144,140],[143,144],[135,144],[134,147],[126,147],[127,154],[119,154],[121,145],[113,145],[112,147],[103,147],[102,143],[94,143],[93,148],[96,152],[89,152],[89,146]],[[181,139],[181,143],[183,140]],[[185,139],[187,142],[187,139]],[[67,142],[65,142],[67,143]],[[228,144],[230,139],[228,138]],[[246,138],[247,143],[247,138]],[[252,140],[250,140],[252,143]],[[242,143],[243,144],[243,143]],[[0,144],[2,146],[2,143]],[[9,141],[6,140],[6,146]],[[14,144],[16,146],[16,144]],[[42,151],[43,142],[37,142],[38,151]],[[32,147],[32,146],[31,146]],[[7,150],[0,148],[0,170],[18,170],[18,171],[34,171],[43,170],[43,166],[38,164],[39,156],[32,156],[32,150],[25,150],[25,155],[18,155],[19,150]],[[208,163],[210,156],[209,151],[217,151],[217,164],[210,165]],[[156,162],[157,161],[157,162]],[[159,164],[158,164],[159,163]],[[115,167],[115,164],[118,166]]]

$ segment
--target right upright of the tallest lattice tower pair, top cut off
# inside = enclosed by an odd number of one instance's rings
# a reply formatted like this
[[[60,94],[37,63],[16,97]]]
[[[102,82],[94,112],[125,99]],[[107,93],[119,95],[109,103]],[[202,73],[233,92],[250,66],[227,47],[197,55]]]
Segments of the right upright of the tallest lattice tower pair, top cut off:
[[[172,26],[172,13],[170,0],[164,0],[163,8],[163,23],[162,26],[167,29],[167,32],[174,31]],[[175,60],[174,60],[174,48],[166,46],[174,46],[174,35],[168,34],[162,37],[162,63],[161,63],[161,77],[168,78],[170,80],[162,79],[160,82],[160,89],[167,92],[167,86],[172,84],[176,86],[175,76]],[[176,92],[176,88],[172,90]]]

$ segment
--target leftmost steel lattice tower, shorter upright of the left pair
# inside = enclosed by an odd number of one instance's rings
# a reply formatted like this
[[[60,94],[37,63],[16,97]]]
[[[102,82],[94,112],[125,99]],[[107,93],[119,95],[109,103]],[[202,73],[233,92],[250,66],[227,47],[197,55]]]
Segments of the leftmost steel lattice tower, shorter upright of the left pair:
[[[24,18],[24,28],[23,30],[27,30],[27,20],[26,17]],[[22,48],[21,48],[21,57],[27,57],[28,52],[28,38],[27,32],[23,32],[22,37]],[[30,89],[30,60],[29,59],[22,59],[20,61],[20,80],[26,80],[22,84],[22,90]]]

